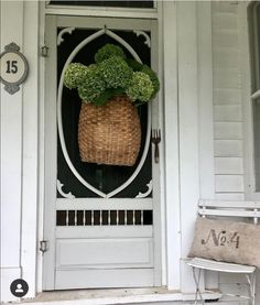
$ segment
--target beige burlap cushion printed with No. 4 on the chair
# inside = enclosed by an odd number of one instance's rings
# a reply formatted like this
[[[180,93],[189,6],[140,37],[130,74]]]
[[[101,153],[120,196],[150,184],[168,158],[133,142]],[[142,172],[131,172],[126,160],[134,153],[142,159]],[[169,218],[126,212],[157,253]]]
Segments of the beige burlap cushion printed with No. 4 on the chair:
[[[199,217],[188,257],[256,265],[260,269],[260,226]]]

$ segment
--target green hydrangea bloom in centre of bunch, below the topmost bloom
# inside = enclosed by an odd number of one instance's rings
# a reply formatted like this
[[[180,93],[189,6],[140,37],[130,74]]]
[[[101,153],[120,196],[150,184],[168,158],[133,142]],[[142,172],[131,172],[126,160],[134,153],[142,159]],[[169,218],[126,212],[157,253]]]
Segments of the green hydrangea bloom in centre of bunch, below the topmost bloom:
[[[128,87],[133,72],[122,57],[111,56],[99,66],[107,88]]]

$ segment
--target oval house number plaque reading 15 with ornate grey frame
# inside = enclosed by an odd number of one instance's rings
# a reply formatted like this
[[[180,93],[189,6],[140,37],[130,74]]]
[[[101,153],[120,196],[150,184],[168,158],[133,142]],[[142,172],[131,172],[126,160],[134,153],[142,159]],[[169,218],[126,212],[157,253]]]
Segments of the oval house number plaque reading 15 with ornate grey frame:
[[[0,80],[10,95],[20,89],[19,86],[26,79],[29,72],[28,61],[19,50],[15,43],[10,43],[0,55]]]

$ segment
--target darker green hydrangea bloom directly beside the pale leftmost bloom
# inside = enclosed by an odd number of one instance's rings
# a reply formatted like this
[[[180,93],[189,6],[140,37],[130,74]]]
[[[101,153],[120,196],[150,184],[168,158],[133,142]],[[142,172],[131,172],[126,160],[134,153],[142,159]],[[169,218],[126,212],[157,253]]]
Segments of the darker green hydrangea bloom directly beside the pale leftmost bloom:
[[[85,101],[93,101],[106,89],[106,84],[101,77],[99,67],[90,65],[85,74],[85,77],[78,86],[78,95]]]

